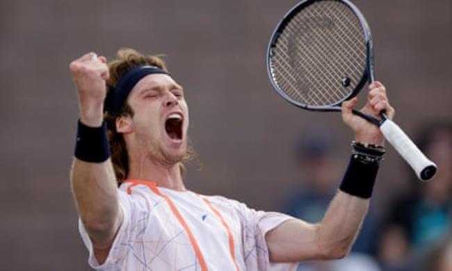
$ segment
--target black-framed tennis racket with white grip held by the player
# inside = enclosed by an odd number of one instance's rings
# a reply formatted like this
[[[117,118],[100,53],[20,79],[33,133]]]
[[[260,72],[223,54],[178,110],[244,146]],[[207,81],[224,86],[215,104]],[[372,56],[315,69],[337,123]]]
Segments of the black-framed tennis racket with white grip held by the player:
[[[291,104],[307,110],[341,111],[343,101],[375,81],[369,25],[350,1],[301,1],[273,31],[267,71],[275,90]],[[419,179],[433,178],[435,163],[384,112],[381,120],[357,110],[353,113],[379,126]]]

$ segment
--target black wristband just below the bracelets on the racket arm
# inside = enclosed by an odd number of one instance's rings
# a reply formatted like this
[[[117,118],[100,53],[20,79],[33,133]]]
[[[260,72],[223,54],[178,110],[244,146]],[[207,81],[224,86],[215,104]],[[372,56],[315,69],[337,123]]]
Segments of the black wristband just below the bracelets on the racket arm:
[[[378,163],[363,163],[352,155],[339,189],[350,195],[369,199],[372,196],[378,167]]]

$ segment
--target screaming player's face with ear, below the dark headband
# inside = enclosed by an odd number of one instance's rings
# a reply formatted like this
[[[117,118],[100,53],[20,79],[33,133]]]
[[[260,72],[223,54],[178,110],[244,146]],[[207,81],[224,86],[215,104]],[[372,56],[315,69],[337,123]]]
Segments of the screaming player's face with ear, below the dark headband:
[[[188,130],[181,86],[167,74],[150,74],[138,81],[127,101],[134,117],[122,117],[117,128],[129,153],[144,154],[166,166],[180,162],[186,154]]]

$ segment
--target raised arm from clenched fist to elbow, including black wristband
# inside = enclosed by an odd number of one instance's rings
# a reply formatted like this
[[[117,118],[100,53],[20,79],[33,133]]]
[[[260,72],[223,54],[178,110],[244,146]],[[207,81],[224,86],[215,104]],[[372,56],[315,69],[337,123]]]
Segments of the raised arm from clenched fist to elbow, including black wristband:
[[[122,221],[118,188],[110,160],[106,126],[102,125],[106,58],[89,53],[72,61],[70,71],[79,100],[80,122],[70,174],[76,207],[93,244],[108,246]]]

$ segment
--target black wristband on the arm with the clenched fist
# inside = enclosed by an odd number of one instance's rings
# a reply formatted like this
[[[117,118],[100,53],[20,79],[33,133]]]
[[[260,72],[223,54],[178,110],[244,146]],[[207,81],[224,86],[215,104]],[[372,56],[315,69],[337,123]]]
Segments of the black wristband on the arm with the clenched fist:
[[[90,127],[79,121],[74,155],[81,161],[91,163],[102,163],[110,157],[106,122],[100,127]]]

